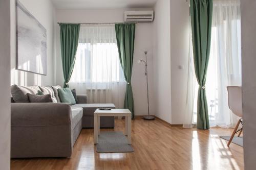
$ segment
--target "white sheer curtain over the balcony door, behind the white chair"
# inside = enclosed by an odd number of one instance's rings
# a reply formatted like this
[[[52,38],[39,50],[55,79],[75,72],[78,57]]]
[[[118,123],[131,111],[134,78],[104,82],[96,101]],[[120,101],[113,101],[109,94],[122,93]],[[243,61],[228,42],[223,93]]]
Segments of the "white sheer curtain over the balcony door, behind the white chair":
[[[242,81],[239,0],[214,1],[206,81],[210,126],[233,127],[237,117],[228,108],[226,87],[240,86]]]

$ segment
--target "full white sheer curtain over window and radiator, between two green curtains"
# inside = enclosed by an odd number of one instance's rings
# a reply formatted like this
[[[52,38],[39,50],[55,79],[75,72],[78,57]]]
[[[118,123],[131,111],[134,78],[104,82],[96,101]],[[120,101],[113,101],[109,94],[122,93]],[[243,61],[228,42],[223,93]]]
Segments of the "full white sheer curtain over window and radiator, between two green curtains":
[[[126,82],[119,62],[114,25],[81,25],[70,88],[88,103],[123,107]]]

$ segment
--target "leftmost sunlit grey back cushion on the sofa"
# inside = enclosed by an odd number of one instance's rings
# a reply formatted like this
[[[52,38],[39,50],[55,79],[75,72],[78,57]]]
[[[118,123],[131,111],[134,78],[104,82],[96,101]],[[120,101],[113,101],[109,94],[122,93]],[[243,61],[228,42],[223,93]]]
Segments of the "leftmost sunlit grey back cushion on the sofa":
[[[18,86],[16,84],[11,86],[11,94],[15,103],[29,103],[28,93],[36,94],[40,90],[39,86]]]

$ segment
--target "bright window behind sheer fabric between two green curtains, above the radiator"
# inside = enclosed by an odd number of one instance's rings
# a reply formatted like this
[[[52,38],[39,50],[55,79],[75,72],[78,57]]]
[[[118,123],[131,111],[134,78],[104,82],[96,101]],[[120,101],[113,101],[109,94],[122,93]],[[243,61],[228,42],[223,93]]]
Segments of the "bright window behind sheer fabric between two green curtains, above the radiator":
[[[81,26],[70,82],[123,81],[114,25]]]

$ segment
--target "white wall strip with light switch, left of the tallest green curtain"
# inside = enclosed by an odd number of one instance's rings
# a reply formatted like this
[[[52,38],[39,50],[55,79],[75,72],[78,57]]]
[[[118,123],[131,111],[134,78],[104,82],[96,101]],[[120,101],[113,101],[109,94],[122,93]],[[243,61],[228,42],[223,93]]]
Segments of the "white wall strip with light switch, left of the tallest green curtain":
[[[183,124],[186,111],[189,2],[170,1],[170,68],[172,124]],[[183,65],[183,69],[178,66]]]

